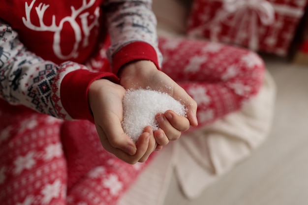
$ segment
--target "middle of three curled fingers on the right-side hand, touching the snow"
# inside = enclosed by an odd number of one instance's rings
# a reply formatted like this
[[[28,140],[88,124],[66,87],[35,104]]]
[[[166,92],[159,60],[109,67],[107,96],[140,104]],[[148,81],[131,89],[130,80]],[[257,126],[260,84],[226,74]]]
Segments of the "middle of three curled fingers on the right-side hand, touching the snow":
[[[157,114],[155,119],[169,140],[177,140],[181,136],[181,131],[174,128],[163,114]]]

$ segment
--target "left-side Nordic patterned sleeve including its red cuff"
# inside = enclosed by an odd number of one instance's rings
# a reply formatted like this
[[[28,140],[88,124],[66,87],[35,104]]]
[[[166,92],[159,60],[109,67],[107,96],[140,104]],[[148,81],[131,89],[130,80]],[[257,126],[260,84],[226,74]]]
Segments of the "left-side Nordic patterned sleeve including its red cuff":
[[[18,34],[0,22],[0,98],[62,119],[89,119],[88,88],[112,73],[92,73],[74,62],[55,64],[27,51]]]

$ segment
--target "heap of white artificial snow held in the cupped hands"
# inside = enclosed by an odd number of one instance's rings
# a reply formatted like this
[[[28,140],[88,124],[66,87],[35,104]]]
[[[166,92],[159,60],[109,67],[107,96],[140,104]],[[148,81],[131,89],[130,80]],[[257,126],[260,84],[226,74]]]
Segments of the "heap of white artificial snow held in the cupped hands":
[[[172,110],[185,116],[185,107],[167,93],[137,89],[127,90],[123,99],[123,131],[136,142],[143,129],[151,125],[153,130],[159,128],[155,115]]]

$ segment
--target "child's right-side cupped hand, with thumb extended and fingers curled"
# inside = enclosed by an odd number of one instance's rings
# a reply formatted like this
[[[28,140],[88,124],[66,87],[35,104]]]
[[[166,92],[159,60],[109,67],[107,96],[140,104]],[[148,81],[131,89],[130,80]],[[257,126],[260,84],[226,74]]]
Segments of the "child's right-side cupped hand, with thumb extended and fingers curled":
[[[157,146],[157,149],[167,145],[169,140],[177,140],[181,132],[186,131],[190,125],[197,126],[197,103],[169,76],[159,71],[153,62],[140,60],[129,63],[123,66],[119,76],[120,84],[125,89],[150,88],[166,92],[184,104],[187,109],[187,118],[179,116],[173,111],[156,115],[156,120],[161,128],[154,132],[156,142],[160,145]]]

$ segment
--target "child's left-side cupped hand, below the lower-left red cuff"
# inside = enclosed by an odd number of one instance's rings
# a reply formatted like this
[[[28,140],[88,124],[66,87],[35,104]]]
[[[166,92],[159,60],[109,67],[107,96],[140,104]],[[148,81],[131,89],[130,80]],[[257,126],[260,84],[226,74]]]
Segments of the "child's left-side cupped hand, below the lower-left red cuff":
[[[121,160],[144,162],[154,151],[156,142],[151,126],[144,129],[135,144],[122,129],[125,89],[106,79],[94,81],[89,88],[89,103],[102,146]]]

